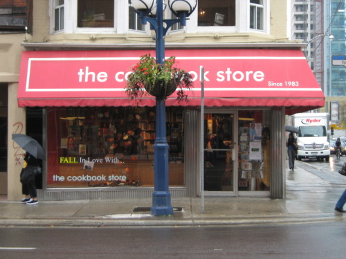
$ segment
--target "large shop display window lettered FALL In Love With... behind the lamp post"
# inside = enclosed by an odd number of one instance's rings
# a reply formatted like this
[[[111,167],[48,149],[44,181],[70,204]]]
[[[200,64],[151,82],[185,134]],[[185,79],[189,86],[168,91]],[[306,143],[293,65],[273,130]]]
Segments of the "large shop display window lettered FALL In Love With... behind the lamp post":
[[[183,109],[167,108],[170,186],[183,186]],[[154,186],[155,108],[47,109],[47,186]]]

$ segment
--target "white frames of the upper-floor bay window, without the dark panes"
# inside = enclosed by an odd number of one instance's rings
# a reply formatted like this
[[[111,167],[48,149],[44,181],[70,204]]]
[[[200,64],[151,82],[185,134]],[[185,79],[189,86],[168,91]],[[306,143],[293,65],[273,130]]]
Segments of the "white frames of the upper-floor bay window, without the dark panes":
[[[55,0],[50,1],[51,8],[51,33],[103,33],[103,34],[142,34],[150,35],[152,32],[149,28],[149,23],[144,26],[144,30],[134,30],[129,28],[129,10],[128,0],[114,1],[114,26],[113,28],[78,28],[77,27],[77,12],[78,1],[64,1],[64,29],[55,31]],[[270,8],[270,1],[263,0],[263,30],[256,30],[250,28],[250,1],[236,0],[235,12],[236,21],[235,26],[198,26],[198,3],[196,10],[188,17],[186,26],[183,28],[172,27],[169,33],[235,33],[235,32],[262,32],[268,33],[270,24],[268,23],[269,17],[268,10]],[[172,17],[172,12],[169,8],[164,11],[164,18]],[[166,18],[165,18],[166,19]]]

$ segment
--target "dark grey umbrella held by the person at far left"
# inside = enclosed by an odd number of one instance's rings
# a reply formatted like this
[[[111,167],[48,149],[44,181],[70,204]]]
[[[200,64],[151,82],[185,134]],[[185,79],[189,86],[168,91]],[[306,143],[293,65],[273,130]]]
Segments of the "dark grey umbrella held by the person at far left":
[[[24,134],[12,134],[12,140],[15,141],[26,152],[30,153],[34,157],[42,160],[46,160],[46,153],[41,144],[34,140],[33,137],[29,137]]]

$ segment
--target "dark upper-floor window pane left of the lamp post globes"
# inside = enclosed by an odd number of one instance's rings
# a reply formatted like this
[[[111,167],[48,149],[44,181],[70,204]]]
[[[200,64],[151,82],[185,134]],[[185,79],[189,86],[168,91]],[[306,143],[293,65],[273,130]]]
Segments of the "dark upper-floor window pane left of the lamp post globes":
[[[114,27],[114,0],[78,0],[78,28]]]

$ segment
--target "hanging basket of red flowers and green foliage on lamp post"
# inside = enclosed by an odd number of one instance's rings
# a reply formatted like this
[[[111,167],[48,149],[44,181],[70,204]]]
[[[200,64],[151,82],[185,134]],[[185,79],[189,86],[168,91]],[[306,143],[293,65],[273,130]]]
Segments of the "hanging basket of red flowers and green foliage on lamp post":
[[[166,99],[176,91],[179,102],[188,102],[186,90],[193,87],[192,77],[185,70],[176,68],[175,57],[165,59],[164,64],[156,64],[154,57],[143,55],[132,68],[125,87],[131,99],[152,95],[156,99]]]

